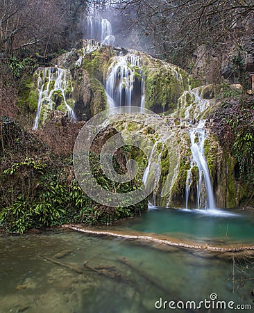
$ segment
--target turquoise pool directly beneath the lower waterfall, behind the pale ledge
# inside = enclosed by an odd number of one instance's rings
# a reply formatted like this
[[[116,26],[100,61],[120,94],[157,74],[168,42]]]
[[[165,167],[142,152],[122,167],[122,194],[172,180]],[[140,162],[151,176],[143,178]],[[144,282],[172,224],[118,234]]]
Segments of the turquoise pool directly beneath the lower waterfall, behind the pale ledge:
[[[170,238],[216,245],[254,245],[253,212],[235,209],[164,209],[150,206],[142,217],[124,220],[108,229],[163,234]]]

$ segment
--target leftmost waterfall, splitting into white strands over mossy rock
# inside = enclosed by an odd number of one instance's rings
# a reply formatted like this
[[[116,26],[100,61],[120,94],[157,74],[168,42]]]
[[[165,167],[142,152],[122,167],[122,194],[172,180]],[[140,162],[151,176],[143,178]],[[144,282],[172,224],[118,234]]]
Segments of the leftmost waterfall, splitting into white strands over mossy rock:
[[[75,114],[71,106],[67,104],[67,99],[65,94],[67,93],[67,88],[69,86],[67,79],[67,70],[55,67],[40,67],[37,70],[38,81],[37,81],[37,91],[39,94],[38,104],[37,104],[37,113],[35,116],[35,122],[33,129],[37,129],[39,126],[39,120],[45,120],[48,114],[48,111],[57,109],[59,104],[56,104],[56,97],[61,98],[62,102],[65,105],[65,109],[68,112],[68,117],[76,120]],[[70,79],[70,77],[69,77]],[[44,110],[42,112],[42,107]]]

